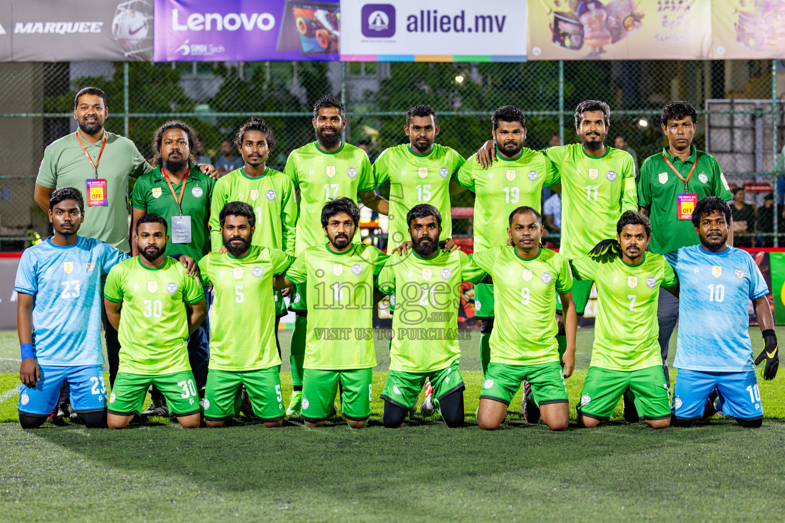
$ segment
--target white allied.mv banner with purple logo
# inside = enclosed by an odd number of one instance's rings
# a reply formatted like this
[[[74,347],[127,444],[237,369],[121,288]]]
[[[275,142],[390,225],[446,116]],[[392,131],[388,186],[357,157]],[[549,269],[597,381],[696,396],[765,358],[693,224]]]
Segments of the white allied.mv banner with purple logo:
[[[341,60],[523,62],[526,4],[341,0]]]

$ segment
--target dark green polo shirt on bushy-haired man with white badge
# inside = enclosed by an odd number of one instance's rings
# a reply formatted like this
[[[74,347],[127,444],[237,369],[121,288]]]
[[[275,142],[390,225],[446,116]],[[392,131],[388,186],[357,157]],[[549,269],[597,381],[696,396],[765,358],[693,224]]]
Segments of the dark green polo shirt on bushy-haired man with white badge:
[[[180,198],[182,186],[182,180],[177,185],[173,185],[177,198]],[[169,242],[166,244],[167,254],[185,254],[196,261],[202,259],[214,186],[215,180],[202,173],[195,165],[191,165],[188,178],[185,179],[185,190],[181,203],[183,215],[191,216],[191,243],[173,244],[170,234]],[[177,200],[174,199],[169,183],[161,173],[160,165],[137,180],[133,186],[133,194],[131,194],[131,205],[133,209],[155,212],[155,214],[163,216],[166,218],[170,231],[172,230],[172,216],[180,215],[180,207],[177,206]]]

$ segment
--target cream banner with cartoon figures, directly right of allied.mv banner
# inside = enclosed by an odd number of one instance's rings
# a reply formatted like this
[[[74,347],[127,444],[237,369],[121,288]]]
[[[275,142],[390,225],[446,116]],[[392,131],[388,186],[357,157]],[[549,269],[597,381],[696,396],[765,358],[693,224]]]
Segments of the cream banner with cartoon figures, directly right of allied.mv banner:
[[[530,0],[529,60],[694,60],[711,0]]]

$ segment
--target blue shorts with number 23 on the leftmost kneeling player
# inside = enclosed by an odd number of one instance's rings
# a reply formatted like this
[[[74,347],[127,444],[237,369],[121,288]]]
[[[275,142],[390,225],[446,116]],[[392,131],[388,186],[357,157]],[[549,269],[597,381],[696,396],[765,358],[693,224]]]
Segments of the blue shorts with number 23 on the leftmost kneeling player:
[[[71,406],[76,412],[96,412],[106,409],[106,384],[101,365],[55,367],[39,365],[41,379],[34,388],[24,383],[19,390],[19,412],[31,416],[49,416],[60,398],[63,382],[68,382]]]

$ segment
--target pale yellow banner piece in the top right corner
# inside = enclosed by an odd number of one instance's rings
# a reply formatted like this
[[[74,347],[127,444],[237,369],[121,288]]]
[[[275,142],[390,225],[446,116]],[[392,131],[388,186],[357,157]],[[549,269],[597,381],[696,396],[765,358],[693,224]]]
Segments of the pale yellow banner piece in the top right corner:
[[[723,0],[711,13],[711,56],[718,60],[783,58],[785,2]]]

